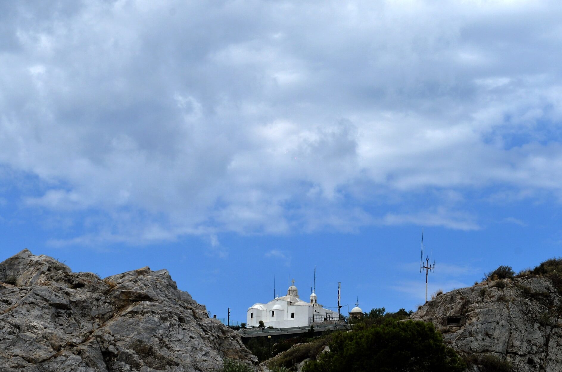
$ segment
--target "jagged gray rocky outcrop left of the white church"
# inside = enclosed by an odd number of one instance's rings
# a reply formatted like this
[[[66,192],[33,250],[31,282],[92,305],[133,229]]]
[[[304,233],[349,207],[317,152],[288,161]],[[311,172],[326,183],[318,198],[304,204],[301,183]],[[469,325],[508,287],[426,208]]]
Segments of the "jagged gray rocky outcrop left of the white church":
[[[216,371],[256,362],[232,330],[148,267],[99,279],[27,249],[0,264],[1,372]]]

